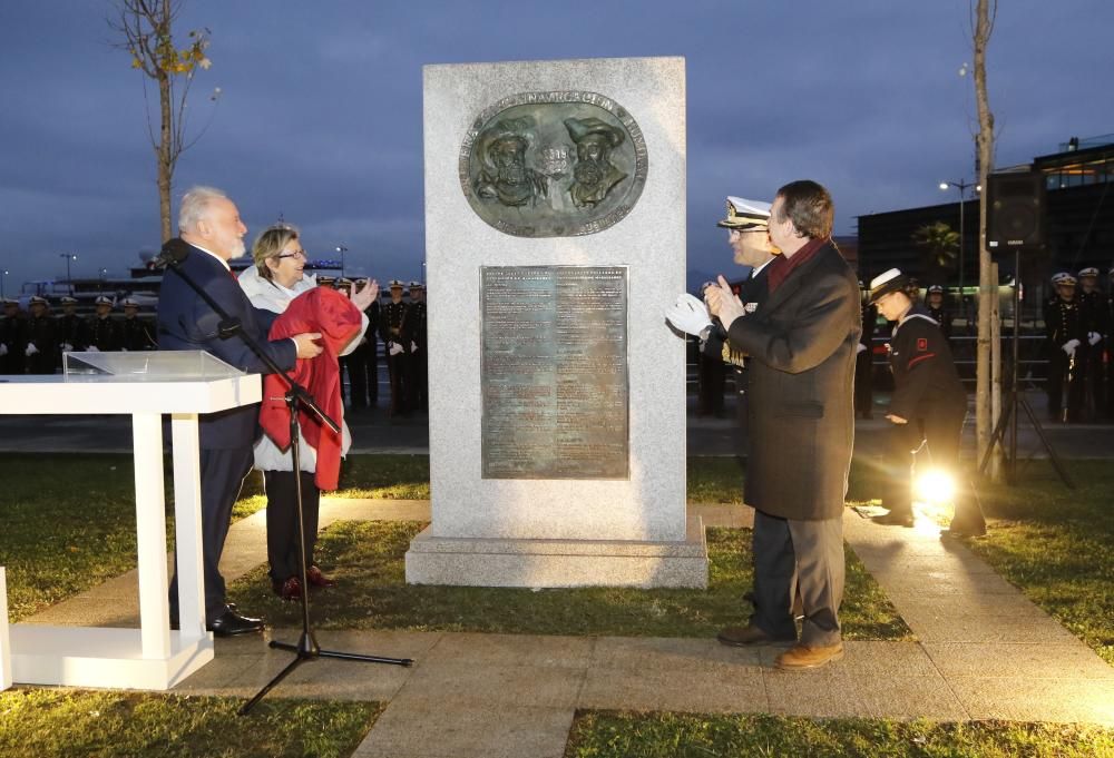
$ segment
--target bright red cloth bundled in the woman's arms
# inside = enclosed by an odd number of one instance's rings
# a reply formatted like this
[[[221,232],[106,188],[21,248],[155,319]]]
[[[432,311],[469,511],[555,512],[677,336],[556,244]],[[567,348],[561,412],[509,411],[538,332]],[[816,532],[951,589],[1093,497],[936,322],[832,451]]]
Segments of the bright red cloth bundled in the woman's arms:
[[[314,287],[290,302],[271,325],[271,339],[292,337],[305,332],[320,332],[324,352],[315,358],[299,358],[287,375],[305,387],[321,410],[333,421],[343,422],[341,371],[336,356],[360,333],[361,313],[342,293],[328,287]],[[263,405],[260,425],[280,450],[290,447],[290,414],[286,412],[285,383],[274,374],[263,377]],[[341,473],[340,432],[321,423],[313,412],[300,408],[297,423],[302,436],[317,451],[314,482],[321,490],[335,490]]]

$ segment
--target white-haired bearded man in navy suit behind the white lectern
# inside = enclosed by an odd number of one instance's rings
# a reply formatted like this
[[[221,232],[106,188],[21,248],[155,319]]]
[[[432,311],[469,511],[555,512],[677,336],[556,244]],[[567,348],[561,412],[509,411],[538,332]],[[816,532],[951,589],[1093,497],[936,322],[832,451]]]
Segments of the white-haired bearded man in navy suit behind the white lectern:
[[[228,260],[244,254],[247,227],[240,220],[236,205],[218,189],[194,187],[182,198],[178,214],[182,242],[190,246],[180,263],[182,272],[206,292],[240,329],[221,335],[221,316],[188,285],[176,269],[167,270],[158,299],[159,350],[202,350],[250,373],[268,373],[243,335],[251,335],[283,370],[293,368],[295,358],[312,358],[322,348],[314,342],[320,334],[299,334],[289,339],[267,341],[273,314],[267,317],[247,299],[228,267]],[[258,404],[208,413],[201,417],[202,553],[205,571],[206,628],[218,637],[260,631],[263,622],[241,616],[225,602],[221,553],[228,535],[232,506],[244,478],[252,469],[252,444],[258,429]],[[172,621],[177,617],[177,574],[170,583]]]

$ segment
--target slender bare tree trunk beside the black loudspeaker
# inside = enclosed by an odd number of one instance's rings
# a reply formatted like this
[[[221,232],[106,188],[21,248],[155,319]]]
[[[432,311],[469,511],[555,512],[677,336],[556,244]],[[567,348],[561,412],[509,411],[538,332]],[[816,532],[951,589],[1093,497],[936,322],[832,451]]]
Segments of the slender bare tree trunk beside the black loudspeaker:
[[[987,187],[987,177],[994,169],[994,114],[986,90],[986,50],[990,43],[994,20],[998,13],[997,0],[977,0],[974,9],[973,31],[975,42],[975,101],[978,107],[978,183]],[[986,193],[979,200],[979,297],[978,297],[978,350],[976,363],[975,429],[978,460],[990,445],[994,417],[990,396],[991,342],[994,332],[995,301],[998,297],[998,282],[991,267],[990,253],[986,247]]]

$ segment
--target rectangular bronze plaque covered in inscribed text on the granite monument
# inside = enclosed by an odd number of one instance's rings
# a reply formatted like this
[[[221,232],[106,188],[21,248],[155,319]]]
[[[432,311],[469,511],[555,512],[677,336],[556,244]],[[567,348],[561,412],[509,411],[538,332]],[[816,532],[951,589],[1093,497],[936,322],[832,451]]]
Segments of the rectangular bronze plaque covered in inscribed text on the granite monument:
[[[628,479],[626,266],[480,268],[485,479]]]

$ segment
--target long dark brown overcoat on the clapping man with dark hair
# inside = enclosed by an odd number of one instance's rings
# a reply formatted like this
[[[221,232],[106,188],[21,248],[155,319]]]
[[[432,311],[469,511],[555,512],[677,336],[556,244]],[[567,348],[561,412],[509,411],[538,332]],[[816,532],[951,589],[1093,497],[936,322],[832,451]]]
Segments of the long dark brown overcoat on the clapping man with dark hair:
[[[861,321],[858,280],[829,243],[731,324],[729,339],[750,355],[749,505],[802,521],[841,515]]]

